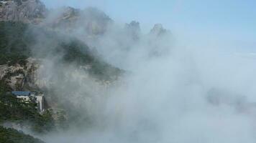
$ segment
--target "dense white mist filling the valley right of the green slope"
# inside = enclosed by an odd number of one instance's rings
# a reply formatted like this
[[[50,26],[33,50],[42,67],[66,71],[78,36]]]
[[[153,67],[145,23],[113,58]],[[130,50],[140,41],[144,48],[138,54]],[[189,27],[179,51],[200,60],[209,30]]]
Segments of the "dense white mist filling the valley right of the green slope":
[[[102,95],[96,96],[99,89],[91,92],[93,102],[78,98],[89,91],[83,74],[69,76],[80,83],[75,91],[68,89],[78,96],[70,101],[84,105],[79,109],[94,114],[98,122],[83,132],[52,134],[47,141],[255,142],[255,59],[171,45],[170,53],[149,56],[150,44],[139,42],[132,47],[137,49],[117,54],[127,59],[115,59],[131,74]]]

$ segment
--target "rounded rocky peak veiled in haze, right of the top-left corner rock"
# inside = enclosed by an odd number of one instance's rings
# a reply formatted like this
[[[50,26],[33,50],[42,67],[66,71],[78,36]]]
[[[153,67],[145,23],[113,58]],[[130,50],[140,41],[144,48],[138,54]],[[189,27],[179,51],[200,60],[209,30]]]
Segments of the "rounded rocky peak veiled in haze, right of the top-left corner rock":
[[[107,26],[112,22],[109,16],[106,16],[103,11],[96,8],[89,7],[81,10],[72,7],[63,7],[57,11],[60,14],[50,21],[50,24],[55,29],[65,29],[70,32],[78,29],[76,33],[83,31],[87,35],[94,36],[104,34]]]

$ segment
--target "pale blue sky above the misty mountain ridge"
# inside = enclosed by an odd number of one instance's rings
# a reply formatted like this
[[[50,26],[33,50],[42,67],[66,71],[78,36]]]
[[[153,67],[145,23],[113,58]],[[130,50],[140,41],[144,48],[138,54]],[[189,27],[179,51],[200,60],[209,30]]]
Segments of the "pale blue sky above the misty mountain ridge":
[[[96,6],[119,22],[161,23],[174,33],[256,48],[255,0],[42,0],[48,7]],[[200,38],[201,39],[201,38]],[[197,39],[197,40],[200,40]]]

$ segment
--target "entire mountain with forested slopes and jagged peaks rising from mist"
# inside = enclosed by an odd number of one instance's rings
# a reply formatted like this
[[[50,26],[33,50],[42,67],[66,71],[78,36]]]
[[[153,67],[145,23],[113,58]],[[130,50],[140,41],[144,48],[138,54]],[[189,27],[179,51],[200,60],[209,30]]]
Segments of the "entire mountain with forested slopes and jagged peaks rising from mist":
[[[113,23],[104,12],[91,7],[52,10],[39,0],[0,0],[0,130],[4,131],[0,131],[0,142],[12,142],[12,134],[20,135],[2,128],[4,122],[31,126],[29,129],[35,133],[65,129],[69,124],[92,127],[98,122],[93,118],[96,114],[88,112],[88,108],[94,107],[97,113],[101,106],[104,108],[104,104],[96,107],[96,100],[106,99],[109,85],[120,82],[119,77],[126,71],[108,64],[93,46],[106,48],[106,44],[99,42],[101,38],[111,44],[105,40],[113,36],[109,25],[117,31],[113,43],[125,50],[140,44],[142,38],[139,22],[126,24],[121,32]],[[154,46],[155,36],[166,33],[158,24],[150,38],[143,37],[153,48],[152,54],[160,53]],[[34,102],[24,103],[12,96],[12,91],[44,93],[45,112],[38,113]]]

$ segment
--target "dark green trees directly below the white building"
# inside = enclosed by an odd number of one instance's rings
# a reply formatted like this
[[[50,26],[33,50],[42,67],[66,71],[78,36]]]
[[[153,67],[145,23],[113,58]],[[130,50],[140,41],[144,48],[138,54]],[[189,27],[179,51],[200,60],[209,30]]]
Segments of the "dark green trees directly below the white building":
[[[35,132],[54,129],[54,120],[49,111],[39,114],[35,102],[24,102],[12,94],[0,94],[0,122],[29,122]]]

